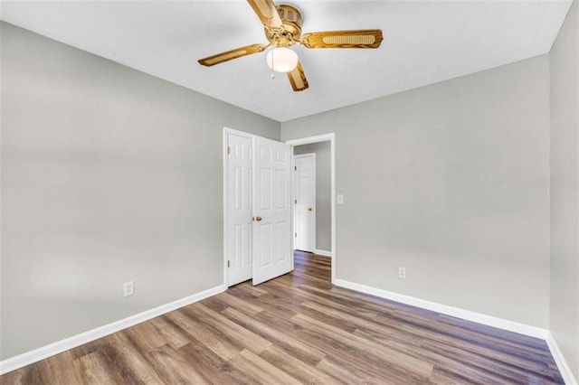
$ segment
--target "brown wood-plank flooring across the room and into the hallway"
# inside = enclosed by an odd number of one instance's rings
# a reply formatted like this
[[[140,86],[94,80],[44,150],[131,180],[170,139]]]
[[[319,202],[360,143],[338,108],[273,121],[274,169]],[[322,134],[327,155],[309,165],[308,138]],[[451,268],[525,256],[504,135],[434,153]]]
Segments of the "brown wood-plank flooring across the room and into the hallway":
[[[0,377],[2,384],[550,384],[546,343],[330,284],[330,259]]]

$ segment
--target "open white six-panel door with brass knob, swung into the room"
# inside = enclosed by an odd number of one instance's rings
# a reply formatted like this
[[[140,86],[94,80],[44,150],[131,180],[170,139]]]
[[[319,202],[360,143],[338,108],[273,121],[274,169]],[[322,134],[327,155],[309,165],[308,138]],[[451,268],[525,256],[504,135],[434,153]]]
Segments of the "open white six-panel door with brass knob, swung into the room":
[[[253,136],[253,285],[293,268],[290,147]]]

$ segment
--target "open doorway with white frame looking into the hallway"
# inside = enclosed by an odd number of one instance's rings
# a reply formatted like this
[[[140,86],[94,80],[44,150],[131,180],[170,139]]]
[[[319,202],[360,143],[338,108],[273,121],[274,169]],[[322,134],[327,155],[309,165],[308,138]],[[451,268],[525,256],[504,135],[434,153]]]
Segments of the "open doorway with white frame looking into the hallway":
[[[303,251],[330,257],[336,277],[335,136],[289,140],[293,155],[292,183],[294,258]]]

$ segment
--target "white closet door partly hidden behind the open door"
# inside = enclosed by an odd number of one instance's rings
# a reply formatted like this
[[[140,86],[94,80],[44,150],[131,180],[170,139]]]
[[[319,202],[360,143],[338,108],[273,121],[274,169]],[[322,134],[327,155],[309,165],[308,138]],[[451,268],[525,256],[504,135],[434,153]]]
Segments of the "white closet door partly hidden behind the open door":
[[[252,278],[252,136],[227,134],[228,285]]]

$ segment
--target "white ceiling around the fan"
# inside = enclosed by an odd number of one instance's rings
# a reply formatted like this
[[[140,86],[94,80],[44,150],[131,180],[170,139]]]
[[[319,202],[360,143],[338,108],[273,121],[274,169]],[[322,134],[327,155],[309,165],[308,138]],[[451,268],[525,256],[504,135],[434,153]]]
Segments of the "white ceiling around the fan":
[[[265,52],[197,60],[267,42],[244,0],[2,1],[2,20],[188,89],[286,121],[549,52],[571,0],[277,1],[303,32],[381,28],[377,50],[295,48],[309,89],[271,80]]]

